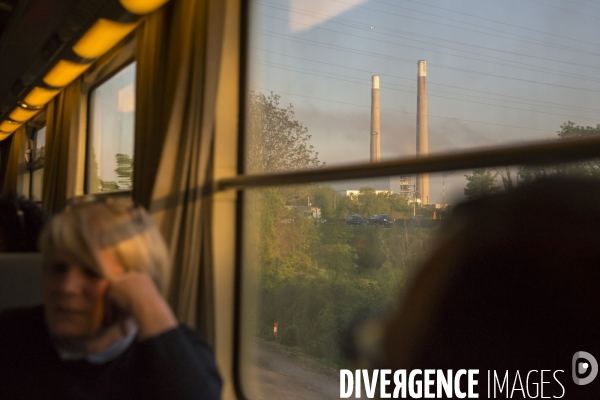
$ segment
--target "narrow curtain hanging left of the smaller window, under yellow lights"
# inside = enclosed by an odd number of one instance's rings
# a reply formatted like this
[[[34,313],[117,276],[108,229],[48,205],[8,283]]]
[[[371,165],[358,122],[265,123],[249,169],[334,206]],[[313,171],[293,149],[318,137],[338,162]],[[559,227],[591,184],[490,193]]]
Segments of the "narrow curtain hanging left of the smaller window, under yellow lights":
[[[70,132],[78,132],[81,78],[77,78],[48,104],[46,113],[46,155],[42,206],[50,214],[67,205]]]

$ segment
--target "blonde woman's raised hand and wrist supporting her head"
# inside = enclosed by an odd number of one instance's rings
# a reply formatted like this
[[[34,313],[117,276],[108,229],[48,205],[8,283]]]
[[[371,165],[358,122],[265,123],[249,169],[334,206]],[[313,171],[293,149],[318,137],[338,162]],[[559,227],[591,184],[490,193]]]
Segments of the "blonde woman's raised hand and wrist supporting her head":
[[[129,271],[112,257],[108,250],[100,251],[108,274],[108,300],[135,319],[139,326],[139,338],[159,335],[177,326],[173,311],[146,273]]]

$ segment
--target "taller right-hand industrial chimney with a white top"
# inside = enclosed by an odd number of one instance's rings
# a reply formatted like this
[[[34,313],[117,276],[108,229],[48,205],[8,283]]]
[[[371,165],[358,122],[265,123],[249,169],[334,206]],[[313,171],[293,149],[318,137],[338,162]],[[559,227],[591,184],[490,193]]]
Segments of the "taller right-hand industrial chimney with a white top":
[[[419,61],[417,86],[417,158],[429,155],[427,137],[427,72],[425,60]],[[429,174],[417,174],[416,192],[421,204],[429,204]]]

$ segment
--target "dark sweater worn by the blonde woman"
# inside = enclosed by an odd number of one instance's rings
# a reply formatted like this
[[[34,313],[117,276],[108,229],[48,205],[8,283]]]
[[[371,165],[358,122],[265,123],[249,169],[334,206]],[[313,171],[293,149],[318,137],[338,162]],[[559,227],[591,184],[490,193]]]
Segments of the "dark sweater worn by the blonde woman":
[[[58,357],[42,307],[0,314],[0,398],[218,399],[220,392],[212,352],[183,325],[94,365]]]

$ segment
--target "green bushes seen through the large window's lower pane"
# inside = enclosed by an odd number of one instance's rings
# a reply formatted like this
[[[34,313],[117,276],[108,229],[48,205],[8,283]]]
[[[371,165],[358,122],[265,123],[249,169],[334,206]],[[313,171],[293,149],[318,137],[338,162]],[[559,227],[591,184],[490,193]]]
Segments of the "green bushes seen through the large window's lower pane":
[[[339,365],[352,322],[393,306],[433,232],[316,224],[286,209],[277,189],[259,199],[257,334],[273,339],[278,322],[280,343]]]

